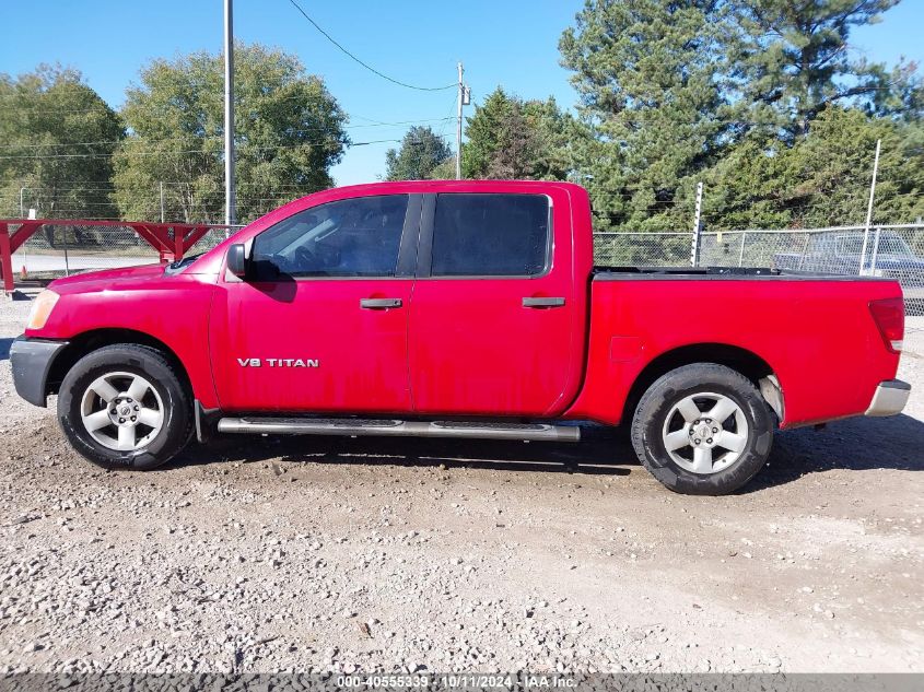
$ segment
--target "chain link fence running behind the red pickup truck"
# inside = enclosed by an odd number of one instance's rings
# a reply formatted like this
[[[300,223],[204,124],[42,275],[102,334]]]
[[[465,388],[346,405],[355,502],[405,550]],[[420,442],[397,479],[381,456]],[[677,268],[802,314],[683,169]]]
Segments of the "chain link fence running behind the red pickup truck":
[[[187,255],[226,237],[210,228]],[[924,315],[924,224],[669,233],[597,233],[606,267],[771,267],[840,275],[877,275],[902,284],[909,315]],[[13,254],[23,278],[51,279],[93,269],[156,262],[157,251],[130,226],[46,224]]]

